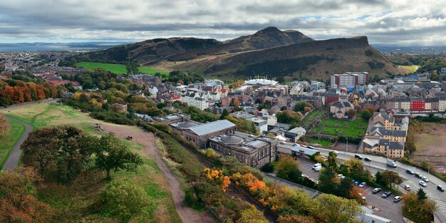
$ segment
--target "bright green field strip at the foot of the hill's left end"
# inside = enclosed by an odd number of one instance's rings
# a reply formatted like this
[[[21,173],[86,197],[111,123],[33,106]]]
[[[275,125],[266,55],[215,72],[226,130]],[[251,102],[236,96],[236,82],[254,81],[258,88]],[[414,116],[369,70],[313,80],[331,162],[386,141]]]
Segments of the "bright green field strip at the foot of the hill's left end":
[[[104,70],[110,71],[112,73],[127,73],[127,70],[125,69],[124,64],[80,62],[80,63],[76,63],[76,66],[85,68],[87,70],[93,70],[95,68],[103,68]],[[168,74],[169,73],[167,71],[160,71],[155,68],[150,68],[148,66],[140,66],[140,67],[138,67],[138,70],[141,73],[147,73],[147,74],[155,74],[155,73]]]

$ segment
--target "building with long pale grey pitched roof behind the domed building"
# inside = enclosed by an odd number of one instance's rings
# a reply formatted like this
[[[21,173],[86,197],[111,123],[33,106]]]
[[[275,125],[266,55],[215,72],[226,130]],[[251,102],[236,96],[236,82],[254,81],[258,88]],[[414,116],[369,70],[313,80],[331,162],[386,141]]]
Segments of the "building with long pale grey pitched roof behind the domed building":
[[[236,128],[236,125],[228,120],[217,120],[211,123],[198,123],[188,120],[182,123],[172,123],[170,126],[202,149],[207,148],[210,138],[229,133]]]

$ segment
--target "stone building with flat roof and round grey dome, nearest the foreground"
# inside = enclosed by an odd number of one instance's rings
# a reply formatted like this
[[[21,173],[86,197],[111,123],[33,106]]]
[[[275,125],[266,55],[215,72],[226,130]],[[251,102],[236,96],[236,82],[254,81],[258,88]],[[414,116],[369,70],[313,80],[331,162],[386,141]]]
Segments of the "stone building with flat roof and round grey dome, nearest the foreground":
[[[222,155],[235,157],[251,167],[262,167],[276,160],[279,140],[237,131],[209,139],[209,147]]]

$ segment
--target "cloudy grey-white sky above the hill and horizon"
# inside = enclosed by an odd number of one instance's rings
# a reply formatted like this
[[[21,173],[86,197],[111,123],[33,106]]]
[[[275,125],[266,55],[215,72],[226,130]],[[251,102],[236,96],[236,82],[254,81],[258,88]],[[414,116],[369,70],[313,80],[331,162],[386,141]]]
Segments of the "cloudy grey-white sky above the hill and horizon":
[[[0,0],[0,43],[227,40],[268,26],[316,40],[446,45],[446,0]]]

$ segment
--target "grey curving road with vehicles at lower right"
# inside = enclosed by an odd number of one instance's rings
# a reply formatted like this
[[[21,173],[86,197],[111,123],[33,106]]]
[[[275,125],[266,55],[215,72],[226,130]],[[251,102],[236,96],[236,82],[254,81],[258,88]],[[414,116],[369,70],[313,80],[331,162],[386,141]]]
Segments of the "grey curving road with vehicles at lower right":
[[[326,156],[328,156],[328,152],[332,151],[320,147],[315,147],[315,149],[321,151],[321,155],[326,155]],[[339,151],[338,159],[348,160],[354,157],[355,154],[356,153],[353,152]],[[413,170],[414,172],[420,172],[421,175],[427,177],[430,180],[430,182],[427,182],[427,187],[423,187],[422,189],[425,190],[428,197],[434,199],[437,202],[438,210],[436,212],[436,215],[437,217],[439,217],[440,222],[446,222],[446,193],[437,190],[437,185],[442,185],[444,187],[446,185],[445,182],[443,182],[442,180],[433,175],[429,175],[425,170],[421,170],[419,168],[409,165],[404,165],[402,162],[397,162],[398,167],[394,168],[394,167],[388,167],[386,165],[387,160],[385,157],[380,157],[376,155],[363,155],[363,157],[370,157],[370,159],[372,160],[371,162],[362,160],[364,162],[365,167],[370,166],[371,170],[373,169],[377,169],[380,171],[392,170],[398,172],[398,174],[405,180],[401,184],[401,186],[410,185],[413,191],[418,190],[418,188],[421,187],[420,185],[418,185],[418,183],[420,182],[420,178],[415,177],[415,175],[408,174],[405,170],[410,169]]]

